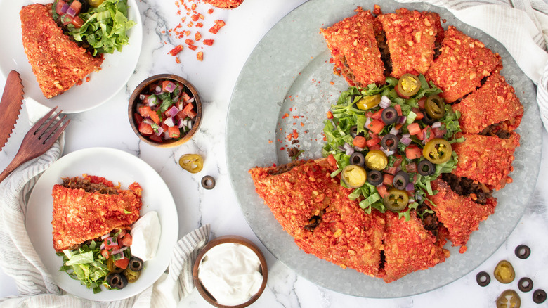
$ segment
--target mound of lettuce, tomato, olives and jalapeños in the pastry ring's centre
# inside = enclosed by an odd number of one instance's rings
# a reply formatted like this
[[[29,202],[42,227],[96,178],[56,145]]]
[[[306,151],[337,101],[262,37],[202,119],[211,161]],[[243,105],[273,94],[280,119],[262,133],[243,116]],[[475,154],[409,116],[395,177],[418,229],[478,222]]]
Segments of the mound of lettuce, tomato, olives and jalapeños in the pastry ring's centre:
[[[435,193],[430,181],[455,169],[460,115],[440,93],[422,75],[387,77],[383,86],[344,91],[327,112],[322,155],[366,213],[391,210],[410,219],[426,193]]]

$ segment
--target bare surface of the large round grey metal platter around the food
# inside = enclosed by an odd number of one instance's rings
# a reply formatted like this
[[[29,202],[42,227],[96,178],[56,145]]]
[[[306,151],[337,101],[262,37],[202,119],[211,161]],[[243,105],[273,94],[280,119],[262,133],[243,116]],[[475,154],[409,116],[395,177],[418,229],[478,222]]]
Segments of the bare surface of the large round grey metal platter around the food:
[[[481,30],[466,25],[449,11],[429,4],[399,4],[382,1],[384,13],[405,7],[433,11],[440,15],[443,27],[455,25],[470,37],[483,41],[500,53],[502,75],[514,86],[525,108],[521,126],[521,146],[514,160],[514,182],[495,192],[495,214],[481,222],[472,233],[468,250],[445,245],[450,257],[431,269],[417,271],[393,283],[384,283],[353,269],[341,267],[307,255],[275,220],[270,209],[255,193],[249,173],[256,166],[281,165],[290,161],[282,147],[299,145],[299,158],[321,158],[323,121],[341,91],[348,88],[344,78],[333,74],[330,53],[321,27],[353,15],[357,6],[372,10],[374,1],[311,0],[282,18],[259,42],[240,72],[235,84],[226,124],[226,160],[230,183],[249,226],[263,245],[299,276],[317,285],[360,297],[390,298],[425,293],[468,274],[488,259],[504,243],[518,224],[533,194],[538,176],[542,143],[539,111],[533,83],[518,68],[500,42]],[[333,84],[331,84],[332,82]],[[287,113],[288,116],[284,115]],[[301,122],[304,126],[301,126]],[[293,130],[299,143],[280,143]]]

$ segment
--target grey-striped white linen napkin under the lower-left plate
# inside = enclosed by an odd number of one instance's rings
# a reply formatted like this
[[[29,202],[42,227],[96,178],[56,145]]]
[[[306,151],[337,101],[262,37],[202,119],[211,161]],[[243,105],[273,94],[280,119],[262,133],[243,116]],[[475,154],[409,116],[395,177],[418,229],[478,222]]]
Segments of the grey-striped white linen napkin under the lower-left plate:
[[[25,107],[31,122],[49,111],[30,99]],[[20,296],[0,299],[1,307],[175,307],[194,288],[192,269],[200,249],[209,241],[209,224],[176,243],[171,262],[159,280],[139,295],[117,302],[93,302],[65,293],[46,271],[25,228],[30,192],[40,174],[63,153],[65,134],[44,155],[15,169],[0,184],[0,266],[15,279]],[[90,290],[91,292],[91,290]]]

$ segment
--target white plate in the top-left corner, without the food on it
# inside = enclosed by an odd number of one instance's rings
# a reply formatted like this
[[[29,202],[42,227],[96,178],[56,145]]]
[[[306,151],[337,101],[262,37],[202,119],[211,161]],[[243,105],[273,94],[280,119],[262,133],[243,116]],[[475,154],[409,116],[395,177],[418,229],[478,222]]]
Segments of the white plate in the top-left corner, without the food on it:
[[[53,0],[52,0],[53,1]],[[122,89],[137,65],[141,44],[143,43],[143,25],[135,0],[127,1],[128,18],[136,25],[128,31],[129,45],[122,52],[105,54],[105,60],[99,72],[92,72],[89,82],[85,80],[79,86],[73,86],[62,95],[46,98],[27,60],[22,46],[21,20],[19,12],[22,6],[33,4],[33,1],[0,1],[0,73],[6,78],[11,70],[21,75],[25,98],[46,105],[49,108],[59,106],[63,113],[80,113],[105,103]]]

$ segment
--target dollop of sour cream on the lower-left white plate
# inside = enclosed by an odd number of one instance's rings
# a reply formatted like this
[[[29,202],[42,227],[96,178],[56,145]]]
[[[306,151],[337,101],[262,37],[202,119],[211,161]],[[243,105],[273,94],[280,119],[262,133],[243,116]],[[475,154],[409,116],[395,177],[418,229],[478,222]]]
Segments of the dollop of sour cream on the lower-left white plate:
[[[157,212],[151,211],[141,216],[131,226],[131,255],[140,257],[143,261],[155,257],[160,233],[162,229]]]

